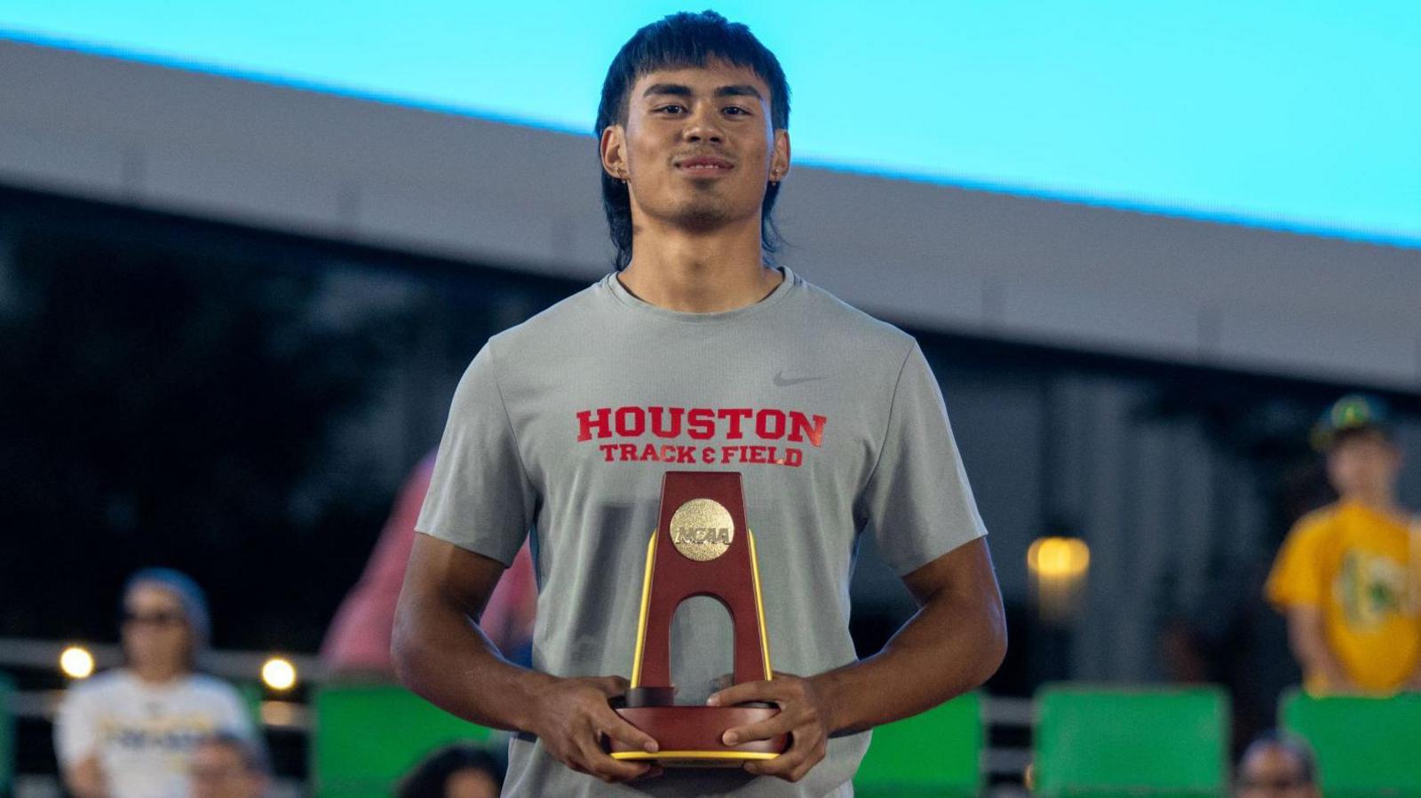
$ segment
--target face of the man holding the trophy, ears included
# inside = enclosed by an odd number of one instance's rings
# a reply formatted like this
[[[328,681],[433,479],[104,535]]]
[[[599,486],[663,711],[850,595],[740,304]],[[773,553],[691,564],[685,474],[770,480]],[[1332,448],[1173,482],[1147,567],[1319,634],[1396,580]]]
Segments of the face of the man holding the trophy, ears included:
[[[767,182],[789,169],[789,133],[772,128],[753,70],[709,61],[638,78],[627,124],[603,132],[603,165],[628,180],[634,226],[709,231],[757,219]]]

